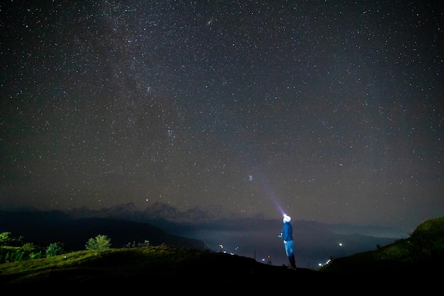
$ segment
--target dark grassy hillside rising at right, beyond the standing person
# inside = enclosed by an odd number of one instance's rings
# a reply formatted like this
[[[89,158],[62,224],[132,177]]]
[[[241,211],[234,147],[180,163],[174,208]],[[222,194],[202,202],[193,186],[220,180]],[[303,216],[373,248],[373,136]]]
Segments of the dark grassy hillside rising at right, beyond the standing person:
[[[322,273],[348,276],[398,275],[404,279],[431,280],[444,264],[444,216],[420,224],[406,239],[376,251],[333,258],[319,269]]]

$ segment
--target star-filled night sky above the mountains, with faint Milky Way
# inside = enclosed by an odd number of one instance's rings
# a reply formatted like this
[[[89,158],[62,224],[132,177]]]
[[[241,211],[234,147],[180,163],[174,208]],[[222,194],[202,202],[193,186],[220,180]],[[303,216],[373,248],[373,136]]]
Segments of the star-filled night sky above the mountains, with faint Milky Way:
[[[0,207],[444,214],[443,1],[8,1]]]

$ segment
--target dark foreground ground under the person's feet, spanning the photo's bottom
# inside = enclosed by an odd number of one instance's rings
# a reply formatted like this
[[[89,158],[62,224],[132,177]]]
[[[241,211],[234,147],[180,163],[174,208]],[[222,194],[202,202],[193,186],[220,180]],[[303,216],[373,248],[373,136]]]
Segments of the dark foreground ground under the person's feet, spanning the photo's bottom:
[[[440,283],[439,279],[433,282],[435,273],[408,270],[407,266],[372,273],[353,269],[329,273],[267,265],[227,253],[165,246],[79,251],[65,256],[2,263],[0,287],[6,288],[4,291],[45,295],[296,295],[300,292],[355,295],[409,292],[418,288],[427,294],[434,283]]]

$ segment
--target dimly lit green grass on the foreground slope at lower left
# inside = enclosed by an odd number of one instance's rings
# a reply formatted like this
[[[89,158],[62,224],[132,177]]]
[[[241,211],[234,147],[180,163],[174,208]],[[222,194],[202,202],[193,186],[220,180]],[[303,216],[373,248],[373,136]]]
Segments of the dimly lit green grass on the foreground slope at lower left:
[[[162,273],[172,265],[184,265],[185,261],[196,256],[196,252],[169,246],[75,251],[48,258],[3,263],[0,265],[0,279],[23,284],[41,282],[49,275],[60,277],[57,274],[70,273],[68,281],[84,282],[99,275],[121,277],[142,270],[145,273],[150,270]],[[118,268],[113,268],[115,266]]]

